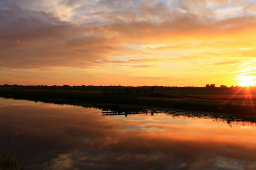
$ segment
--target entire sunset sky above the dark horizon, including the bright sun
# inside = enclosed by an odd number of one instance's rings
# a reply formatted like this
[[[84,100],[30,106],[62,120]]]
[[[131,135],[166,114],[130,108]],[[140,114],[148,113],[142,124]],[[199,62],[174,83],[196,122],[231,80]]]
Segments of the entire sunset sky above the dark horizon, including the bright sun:
[[[256,85],[256,0],[1,0],[0,85]]]

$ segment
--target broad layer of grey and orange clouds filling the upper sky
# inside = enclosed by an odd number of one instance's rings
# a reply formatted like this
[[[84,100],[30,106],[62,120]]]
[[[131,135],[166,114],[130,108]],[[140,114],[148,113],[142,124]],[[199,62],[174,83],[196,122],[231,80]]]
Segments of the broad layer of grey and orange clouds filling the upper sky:
[[[190,72],[197,59],[255,57],[256,17],[249,1],[3,0],[0,4],[0,68],[10,71],[115,67],[127,73],[131,67],[143,71],[154,65],[154,71],[162,74],[167,63],[175,68],[175,62],[183,62]],[[227,15],[219,17],[218,10],[224,9]]]

